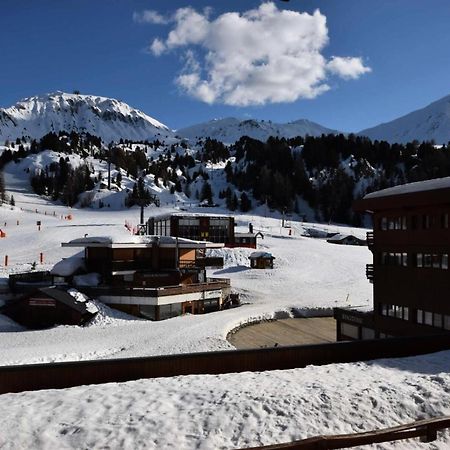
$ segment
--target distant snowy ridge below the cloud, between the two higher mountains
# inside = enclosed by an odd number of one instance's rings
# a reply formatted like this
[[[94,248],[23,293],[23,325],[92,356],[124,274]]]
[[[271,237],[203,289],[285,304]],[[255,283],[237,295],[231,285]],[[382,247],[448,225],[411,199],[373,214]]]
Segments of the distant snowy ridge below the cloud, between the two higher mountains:
[[[196,140],[209,137],[227,144],[236,142],[242,136],[266,141],[269,136],[291,138],[305,135],[320,136],[330,133],[338,132],[306,119],[280,124],[270,120],[240,120],[234,117],[215,119],[177,130],[177,135],[182,138]]]

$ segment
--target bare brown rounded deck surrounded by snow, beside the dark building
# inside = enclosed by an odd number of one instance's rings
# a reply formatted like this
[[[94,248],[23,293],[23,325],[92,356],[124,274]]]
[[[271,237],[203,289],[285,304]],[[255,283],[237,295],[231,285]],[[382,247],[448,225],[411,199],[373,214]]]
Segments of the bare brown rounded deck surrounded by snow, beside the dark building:
[[[228,340],[238,349],[335,342],[336,321],[333,317],[312,317],[261,322],[241,328]]]

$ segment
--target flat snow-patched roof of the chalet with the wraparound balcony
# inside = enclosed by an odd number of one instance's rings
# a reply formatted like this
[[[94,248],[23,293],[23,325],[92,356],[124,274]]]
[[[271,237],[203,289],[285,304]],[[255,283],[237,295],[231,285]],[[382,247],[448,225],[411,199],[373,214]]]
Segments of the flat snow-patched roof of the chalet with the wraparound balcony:
[[[222,248],[224,244],[208,241],[194,241],[172,236],[86,236],[63,242],[63,247],[110,247],[110,248],[145,248],[156,243],[159,247],[181,248]]]

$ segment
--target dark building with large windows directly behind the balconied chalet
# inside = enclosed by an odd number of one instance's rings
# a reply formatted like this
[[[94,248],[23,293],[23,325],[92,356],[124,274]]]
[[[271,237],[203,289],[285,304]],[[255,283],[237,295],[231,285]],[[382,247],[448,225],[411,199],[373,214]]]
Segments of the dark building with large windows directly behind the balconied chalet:
[[[146,234],[223,243],[226,247],[249,248],[256,248],[257,238],[264,237],[262,233],[253,233],[251,224],[247,233],[236,233],[234,228],[234,217],[166,214],[151,217],[146,224]]]

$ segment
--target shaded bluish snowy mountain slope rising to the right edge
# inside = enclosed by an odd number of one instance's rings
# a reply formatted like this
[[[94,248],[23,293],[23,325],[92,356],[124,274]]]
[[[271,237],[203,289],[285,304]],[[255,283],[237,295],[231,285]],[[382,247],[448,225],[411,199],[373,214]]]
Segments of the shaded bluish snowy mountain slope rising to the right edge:
[[[446,144],[450,141],[450,95],[425,108],[413,111],[391,122],[362,130],[358,134],[390,143],[406,143],[414,139]]]

